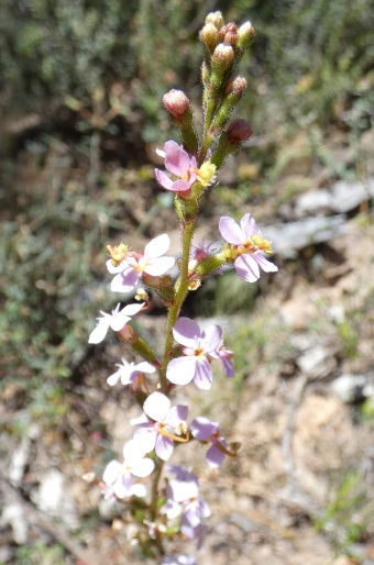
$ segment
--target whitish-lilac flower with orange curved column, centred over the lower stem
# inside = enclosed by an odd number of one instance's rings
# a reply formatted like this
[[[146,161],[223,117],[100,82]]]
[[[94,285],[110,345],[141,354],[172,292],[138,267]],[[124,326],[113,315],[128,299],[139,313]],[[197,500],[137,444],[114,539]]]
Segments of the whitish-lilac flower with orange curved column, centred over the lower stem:
[[[174,450],[174,441],[185,441],[176,435],[185,432],[187,406],[174,406],[170,408],[169,399],[162,392],[152,392],[143,405],[143,414],[131,421],[139,429],[134,439],[145,453],[153,450],[156,455],[167,461]]]

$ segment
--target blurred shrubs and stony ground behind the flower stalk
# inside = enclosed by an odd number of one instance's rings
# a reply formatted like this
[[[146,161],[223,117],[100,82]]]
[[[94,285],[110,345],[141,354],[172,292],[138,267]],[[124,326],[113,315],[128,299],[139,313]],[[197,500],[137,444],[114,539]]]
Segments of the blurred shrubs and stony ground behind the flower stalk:
[[[228,330],[237,378],[184,394],[243,442],[207,481],[199,563],[374,563],[373,1],[3,0],[0,564],[95,564],[87,546],[127,563],[123,511],[81,479],[131,434],[131,399],[106,383],[125,353],[87,340],[118,301],[108,243],[141,251],[167,231],[177,253],[153,177],[155,148],[178,140],[161,98],[184,90],[201,123],[198,31],[216,10],[256,29],[235,112],[254,136],[207,195],[196,242],[251,211],[279,273],[211,277],[185,307]],[[155,346],[164,320],[157,300],[139,319]]]

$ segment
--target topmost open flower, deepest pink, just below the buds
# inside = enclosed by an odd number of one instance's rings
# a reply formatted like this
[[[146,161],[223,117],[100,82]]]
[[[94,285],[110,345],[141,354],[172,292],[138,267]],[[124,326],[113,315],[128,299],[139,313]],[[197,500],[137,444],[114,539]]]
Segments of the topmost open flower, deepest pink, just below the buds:
[[[157,182],[166,190],[173,192],[187,192],[196,181],[197,163],[195,157],[189,157],[188,153],[175,141],[167,141],[164,145],[165,151],[157,151],[161,157],[165,158],[165,168],[176,180],[172,180],[165,173],[155,169],[154,174]]]

